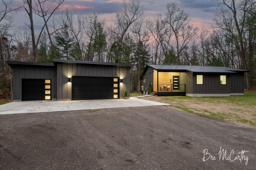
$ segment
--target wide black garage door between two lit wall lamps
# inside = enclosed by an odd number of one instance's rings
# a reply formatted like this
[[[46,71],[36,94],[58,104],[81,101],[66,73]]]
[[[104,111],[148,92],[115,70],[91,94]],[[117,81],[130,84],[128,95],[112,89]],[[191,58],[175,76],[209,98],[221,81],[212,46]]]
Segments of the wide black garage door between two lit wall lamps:
[[[119,99],[119,78],[72,76],[72,100]]]

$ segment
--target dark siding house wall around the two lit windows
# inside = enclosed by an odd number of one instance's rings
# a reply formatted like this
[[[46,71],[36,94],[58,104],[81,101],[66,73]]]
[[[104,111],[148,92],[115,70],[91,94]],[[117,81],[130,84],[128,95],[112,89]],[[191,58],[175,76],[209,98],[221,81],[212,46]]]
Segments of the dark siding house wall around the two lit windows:
[[[220,85],[220,75],[203,75],[203,85],[197,85],[197,75],[193,74],[193,93],[194,94],[227,94],[230,93],[230,75],[227,76],[227,84]],[[224,74],[223,74],[224,75]]]

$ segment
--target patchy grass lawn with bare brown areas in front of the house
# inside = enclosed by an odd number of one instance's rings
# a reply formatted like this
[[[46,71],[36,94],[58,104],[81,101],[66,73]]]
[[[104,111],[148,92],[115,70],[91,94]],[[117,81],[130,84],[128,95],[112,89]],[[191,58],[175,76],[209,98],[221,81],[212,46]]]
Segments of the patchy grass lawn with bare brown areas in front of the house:
[[[256,92],[230,97],[165,96],[158,101],[203,117],[256,126]]]

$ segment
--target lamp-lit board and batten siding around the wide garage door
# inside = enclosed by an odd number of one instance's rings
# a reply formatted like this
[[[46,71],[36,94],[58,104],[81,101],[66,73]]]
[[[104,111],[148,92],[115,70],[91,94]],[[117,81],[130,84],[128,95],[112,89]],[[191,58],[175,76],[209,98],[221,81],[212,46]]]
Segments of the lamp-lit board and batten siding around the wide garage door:
[[[127,89],[127,97],[130,97],[130,68],[58,64],[57,70],[61,73],[57,77],[58,99],[71,99],[72,76],[123,78],[123,83],[119,84],[119,96],[123,98],[123,92]],[[68,83],[68,77],[71,83]]]

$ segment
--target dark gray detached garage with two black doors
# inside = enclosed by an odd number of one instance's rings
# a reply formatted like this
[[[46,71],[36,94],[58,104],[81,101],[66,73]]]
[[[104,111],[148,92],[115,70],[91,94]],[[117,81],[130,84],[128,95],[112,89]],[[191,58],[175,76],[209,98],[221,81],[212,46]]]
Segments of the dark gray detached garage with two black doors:
[[[13,99],[87,100],[130,97],[133,64],[53,59],[53,63],[6,61],[13,69]]]

